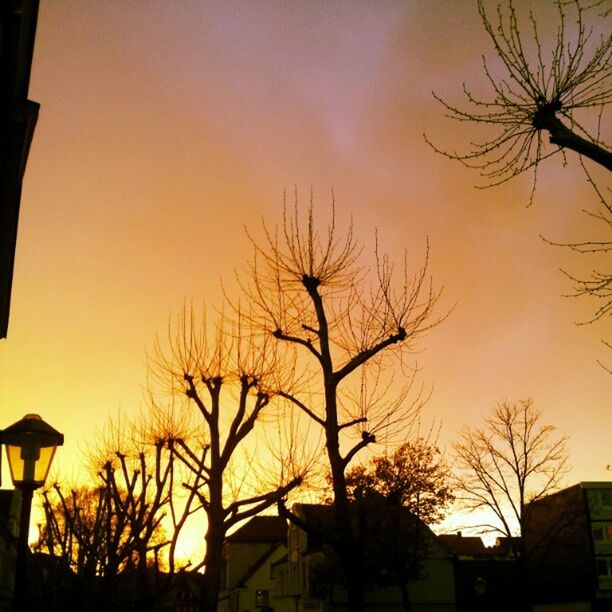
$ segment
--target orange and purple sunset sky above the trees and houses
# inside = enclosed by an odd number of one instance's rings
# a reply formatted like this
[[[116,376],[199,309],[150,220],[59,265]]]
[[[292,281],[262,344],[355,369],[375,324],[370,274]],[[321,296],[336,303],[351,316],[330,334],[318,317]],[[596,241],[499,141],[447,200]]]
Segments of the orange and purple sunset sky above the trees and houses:
[[[280,221],[294,188],[327,216],[333,189],[339,217],[391,258],[407,249],[416,269],[429,240],[452,313],[415,358],[442,446],[531,397],[569,436],[567,483],[609,480],[610,324],[575,324],[594,306],[563,298],[560,272],[595,264],[540,237],[598,235],[577,160],[549,160],[528,206],[530,177],[477,189],[423,138],[481,139],[431,92],[484,91],[490,51],[467,0],[42,0],[0,426],[40,414],[65,434],[55,473],[78,477],[96,429],[145,405],[146,351],[170,314],[215,302],[248,264],[245,227]]]

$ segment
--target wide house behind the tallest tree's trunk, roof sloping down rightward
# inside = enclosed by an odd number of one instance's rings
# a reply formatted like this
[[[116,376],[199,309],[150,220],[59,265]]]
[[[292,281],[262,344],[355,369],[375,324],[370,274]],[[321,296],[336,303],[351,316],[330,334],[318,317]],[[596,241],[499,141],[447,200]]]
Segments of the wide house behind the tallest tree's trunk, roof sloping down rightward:
[[[397,544],[406,553],[402,560],[413,572],[408,581],[408,593],[415,612],[455,611],[453,555],[438,540],[437,536],[416,516],[403,508],[397,508],[397,515],[387,521],[386,513],[365,517],[370,521],[369,537],[365,536],[366,609],[372,612],[403,609],[401,591],[392,574],[385,568],[385,559],[396,551],[388,550],[388,544]],[[314,533],[323,531],[330,524],[331,507],[321,505],[296,504],[293,512],[306,524],[312,526]],[[360,517],[360,522],[364,517]],[[377,527],[383,526],[382,531]],[[389,530],[393,538],[389,538]],[[368,539],[372,539],[370,546]],[[383,542],[382,556],[378,544]],[[401,552],[401,551],[397,551]],[[342,584],[342,574],[338,570],[333,553],[321,538],[307,533],[294,524],[289,525],[287,560],[279,563],[279,600],[291,600],[293,607],[282,610],[346,610],[346,590]]]

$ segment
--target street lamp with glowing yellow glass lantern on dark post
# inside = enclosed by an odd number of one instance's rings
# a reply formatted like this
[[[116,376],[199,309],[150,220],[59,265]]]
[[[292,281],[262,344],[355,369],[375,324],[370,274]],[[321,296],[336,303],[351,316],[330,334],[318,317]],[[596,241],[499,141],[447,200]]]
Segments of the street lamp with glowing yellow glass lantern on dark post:
[[[27,554],[30,531],[30,511],[34,489],[45,484],[55,449],[64,443],[64,434],[45,423],[37,414],[26,414],[23,419],[0,431],[0,442],[6,446],[11,479],[21,491],[21,514],[15,564],[13,609],[26,609]]]

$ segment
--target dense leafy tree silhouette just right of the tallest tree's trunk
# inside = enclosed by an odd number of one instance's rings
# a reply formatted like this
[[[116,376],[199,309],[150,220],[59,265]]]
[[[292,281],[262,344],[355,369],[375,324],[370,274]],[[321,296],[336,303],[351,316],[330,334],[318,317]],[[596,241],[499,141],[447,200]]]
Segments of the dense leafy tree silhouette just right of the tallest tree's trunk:
[[[435,445],[417,438],[354,467],[346,482],[361,515],[369,574],[398,586],[410,612],[408,583],[422,576],[429,552],[425,525],[441,521],[454,499],[448,465]]]

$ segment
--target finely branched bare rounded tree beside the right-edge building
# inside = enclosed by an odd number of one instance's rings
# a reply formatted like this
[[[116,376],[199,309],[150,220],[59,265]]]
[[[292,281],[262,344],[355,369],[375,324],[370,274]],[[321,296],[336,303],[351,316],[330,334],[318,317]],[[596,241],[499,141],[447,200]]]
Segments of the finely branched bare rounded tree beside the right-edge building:
[[[554,492],[568,470],[567,437],[555,438],[541,417],[532,400],[502,402],[454,445],[458,501],[495,519],[479,526],[508,538],[523,580],[529,503]]]

